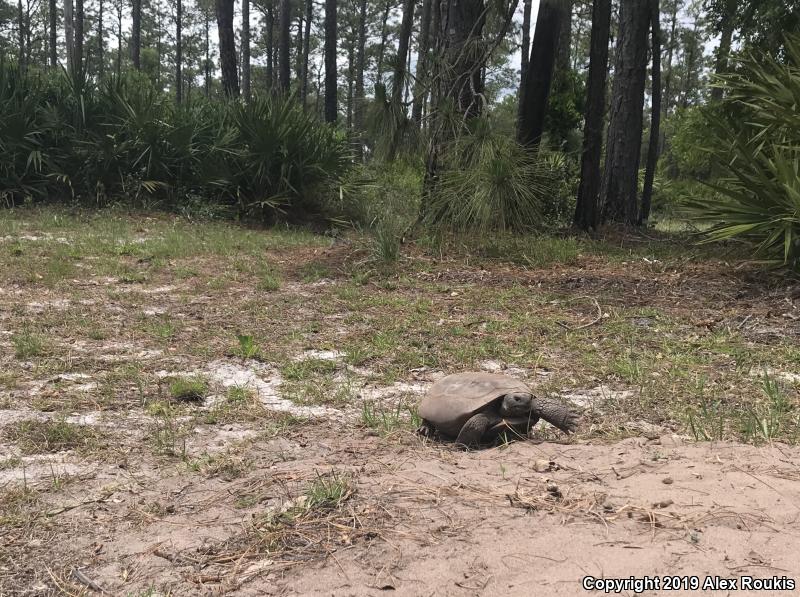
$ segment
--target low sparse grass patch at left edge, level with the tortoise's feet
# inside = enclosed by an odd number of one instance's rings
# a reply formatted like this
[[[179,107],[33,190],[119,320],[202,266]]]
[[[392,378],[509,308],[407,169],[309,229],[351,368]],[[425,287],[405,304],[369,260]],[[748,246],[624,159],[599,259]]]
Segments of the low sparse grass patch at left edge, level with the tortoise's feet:
[[[63,419],[28,419],[7,425],[3,432],[23,454],[88,451],[96,447],[101,438],[96,429],[88,425],[75,425]]]

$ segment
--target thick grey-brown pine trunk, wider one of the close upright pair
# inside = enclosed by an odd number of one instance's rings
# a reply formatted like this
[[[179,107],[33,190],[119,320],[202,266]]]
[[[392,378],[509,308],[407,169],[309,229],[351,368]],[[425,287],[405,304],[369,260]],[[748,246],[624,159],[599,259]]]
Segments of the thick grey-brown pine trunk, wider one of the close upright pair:
[[[638,174],[642,109],[647,72],[649,2],[622,0],[620,31],[611,95],[606,164],[600,197],[603,220],[635,226],[639,222]]]

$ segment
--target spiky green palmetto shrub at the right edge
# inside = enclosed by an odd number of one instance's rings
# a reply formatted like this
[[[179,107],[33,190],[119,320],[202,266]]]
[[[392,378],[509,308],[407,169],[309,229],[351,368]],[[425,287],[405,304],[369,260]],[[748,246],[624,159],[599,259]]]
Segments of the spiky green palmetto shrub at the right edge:
[[[738,237],[766,261],[800,270],[800,37],[786,50],[786,64],[751,56],[723,78],[723,109],[707,117],[724,177],[710,185],[718,195],[689,207],[713,224],[708,240]]]

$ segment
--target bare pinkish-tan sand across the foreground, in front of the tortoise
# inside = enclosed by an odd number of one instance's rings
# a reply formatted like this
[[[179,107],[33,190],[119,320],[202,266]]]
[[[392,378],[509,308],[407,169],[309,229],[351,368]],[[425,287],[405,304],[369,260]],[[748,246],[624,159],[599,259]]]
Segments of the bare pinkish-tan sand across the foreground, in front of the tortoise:
[[[79,589],[73,568],[117,595],[578,595],[589,576],[800,578],[797,448],[665,435],[464,453],[361,435],[322,424],[252,443],[231,481],[132,474],[124,459],[83,470],[34,538],[3,538],[25,543],[30,566],[16,572],[31,584],[7,594],[52,594],[59,571]],[[272,539],[248,531],[330,471],[350,482],[335,511]]]

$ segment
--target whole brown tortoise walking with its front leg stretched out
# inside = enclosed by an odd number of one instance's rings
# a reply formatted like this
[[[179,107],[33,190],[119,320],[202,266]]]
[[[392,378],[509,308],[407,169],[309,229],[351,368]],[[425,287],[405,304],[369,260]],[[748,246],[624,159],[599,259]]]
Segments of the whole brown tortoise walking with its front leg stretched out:
[[[544,419],[569,433],[578,415],[552,398],[539,398],[521,381],[495,373],[454,373],[435,382],[419,407],[423,435],[455,438],[473,446],[495,439],[503,431],[527,435]]]

